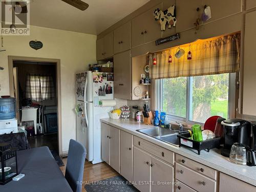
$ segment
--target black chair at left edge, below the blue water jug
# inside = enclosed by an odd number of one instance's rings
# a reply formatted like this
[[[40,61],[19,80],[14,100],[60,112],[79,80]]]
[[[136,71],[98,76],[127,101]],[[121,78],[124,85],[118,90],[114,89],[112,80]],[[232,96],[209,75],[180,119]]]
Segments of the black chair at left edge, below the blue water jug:
[[[27,150],[30,148],[24,132],[0,135],[0,143],[10,143],[11,146],[17,150]]]

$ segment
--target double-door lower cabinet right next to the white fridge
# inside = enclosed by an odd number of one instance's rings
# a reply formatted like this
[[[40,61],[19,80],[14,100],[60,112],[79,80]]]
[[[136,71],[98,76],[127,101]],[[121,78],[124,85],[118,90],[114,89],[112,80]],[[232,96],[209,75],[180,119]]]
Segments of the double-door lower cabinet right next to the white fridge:
[[[101,123],[101,159],[120,173],[119,129]]]

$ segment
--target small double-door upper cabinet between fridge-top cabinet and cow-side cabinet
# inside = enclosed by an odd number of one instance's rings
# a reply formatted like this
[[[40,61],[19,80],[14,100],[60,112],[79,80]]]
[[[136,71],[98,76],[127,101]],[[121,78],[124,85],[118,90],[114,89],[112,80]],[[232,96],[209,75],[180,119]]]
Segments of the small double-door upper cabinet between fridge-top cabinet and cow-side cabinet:
[[[131,22],[114,30],[114,54],[131,48]]]

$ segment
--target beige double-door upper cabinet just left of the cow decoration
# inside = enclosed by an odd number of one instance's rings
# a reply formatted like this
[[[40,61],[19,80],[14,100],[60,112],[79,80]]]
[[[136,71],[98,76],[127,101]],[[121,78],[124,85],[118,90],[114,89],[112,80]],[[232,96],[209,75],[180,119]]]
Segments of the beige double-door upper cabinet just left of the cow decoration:
[[[159,21],[156,21],[153,16],[153,13],[157,8],[162,9],[162,4],[158,4],[152,9],[132,19],[132,47],[161,38],[162,35]]]

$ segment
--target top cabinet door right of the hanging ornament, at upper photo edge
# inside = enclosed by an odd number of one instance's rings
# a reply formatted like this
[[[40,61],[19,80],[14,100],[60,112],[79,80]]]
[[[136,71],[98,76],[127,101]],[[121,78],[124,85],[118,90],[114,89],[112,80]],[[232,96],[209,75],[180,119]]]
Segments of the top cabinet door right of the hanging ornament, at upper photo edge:
[[[242,0],[204,0],[203,5],[210,6],[211,10],[211,18],[207,22],[242,12]]]

